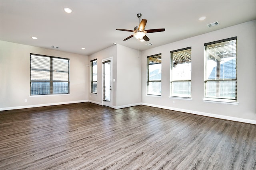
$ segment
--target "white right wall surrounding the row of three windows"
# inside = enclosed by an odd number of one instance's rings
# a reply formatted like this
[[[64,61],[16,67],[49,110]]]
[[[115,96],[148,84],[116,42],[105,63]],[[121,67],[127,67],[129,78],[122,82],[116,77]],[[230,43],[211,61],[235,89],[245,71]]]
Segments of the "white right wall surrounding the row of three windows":
[[[203,102],[204,43],[237,36],[238,105]],[[170,51],[192,47],[192,100],[169,98]],[[146,95],[147,56],[162,53],[162,96]],[[142,104],[256,123],[256,20],[142,51]],[[175,104],[173,104],[173,101]],[[244,120],[245,119],[245,120]]]

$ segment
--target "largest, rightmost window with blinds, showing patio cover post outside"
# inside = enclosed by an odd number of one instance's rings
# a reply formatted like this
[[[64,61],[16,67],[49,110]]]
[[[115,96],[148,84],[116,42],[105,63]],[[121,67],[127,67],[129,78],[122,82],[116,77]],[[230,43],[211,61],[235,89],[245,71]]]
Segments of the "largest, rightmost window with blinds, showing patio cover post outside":
[[[236,39],[204,44],[205,98],[236,100]]]

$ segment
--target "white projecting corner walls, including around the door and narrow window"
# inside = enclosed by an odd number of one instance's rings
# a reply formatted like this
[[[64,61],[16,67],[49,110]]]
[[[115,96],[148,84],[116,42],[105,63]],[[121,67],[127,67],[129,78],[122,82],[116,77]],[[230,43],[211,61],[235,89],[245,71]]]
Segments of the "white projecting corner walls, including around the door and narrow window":
[[[123,108],[141,102],[141,59],[138,50],[114,45],[89,56],[88,62],[97,59],[98,92],[89,94],[89,102],[102,105],[102,60],[113,57],[112,107]],[[90,77],[88,79],[90,91]]]

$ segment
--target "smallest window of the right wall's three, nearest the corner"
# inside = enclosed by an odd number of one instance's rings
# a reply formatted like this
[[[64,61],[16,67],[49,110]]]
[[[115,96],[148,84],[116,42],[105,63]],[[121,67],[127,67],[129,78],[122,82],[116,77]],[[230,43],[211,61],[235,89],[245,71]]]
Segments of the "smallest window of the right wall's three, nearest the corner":
[[[148,56],[147,94],[161,96],[161,54]]]

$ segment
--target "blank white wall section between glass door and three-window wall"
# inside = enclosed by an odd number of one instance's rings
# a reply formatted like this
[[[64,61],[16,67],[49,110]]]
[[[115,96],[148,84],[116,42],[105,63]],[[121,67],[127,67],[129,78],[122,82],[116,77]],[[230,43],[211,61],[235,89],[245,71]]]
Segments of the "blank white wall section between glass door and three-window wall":
[[[141,59],[138,50],[117,47],[116,107],[141,103]]]

